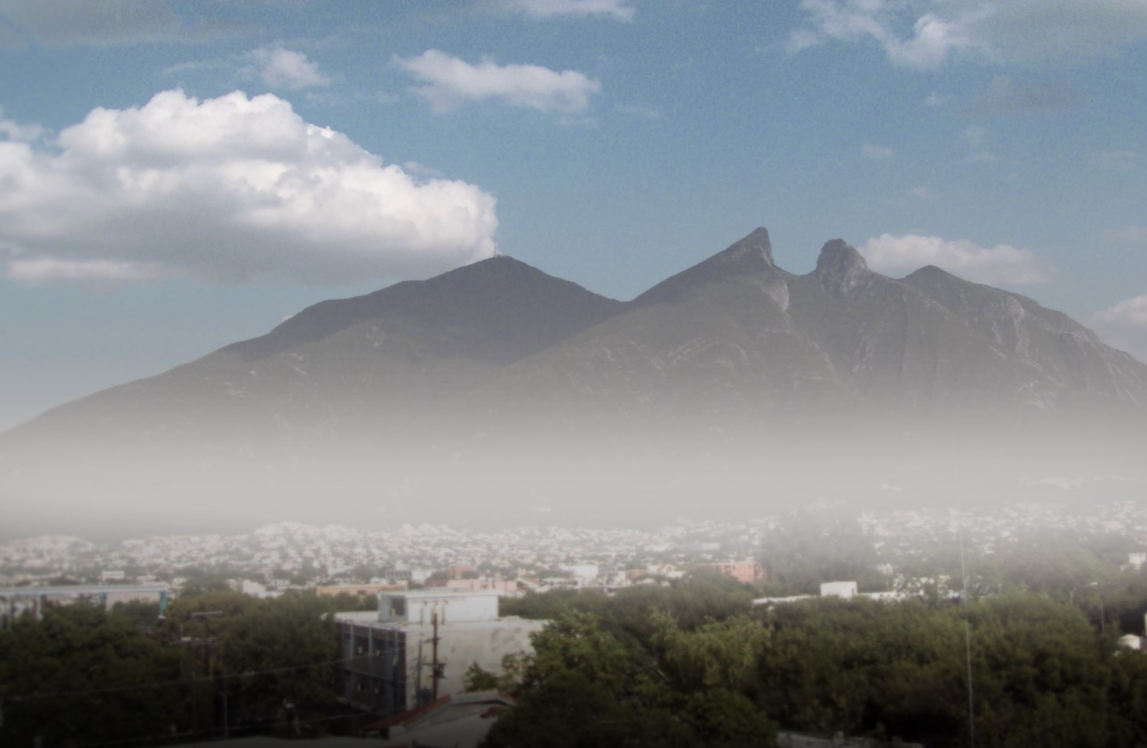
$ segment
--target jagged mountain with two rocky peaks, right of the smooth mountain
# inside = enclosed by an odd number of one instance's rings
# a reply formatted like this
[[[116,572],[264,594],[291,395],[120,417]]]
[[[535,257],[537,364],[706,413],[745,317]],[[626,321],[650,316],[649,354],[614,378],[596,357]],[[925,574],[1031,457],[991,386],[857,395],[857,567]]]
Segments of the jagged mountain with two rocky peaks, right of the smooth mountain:
[[[1030,298],[926,267],[868,270],[841,240],[794,275],[760,228],[622,313],[515,363],[486,390],[530,407],[720,418],[1142,408],[1147,367]],[[523,395],[528,394],[528,395]]]

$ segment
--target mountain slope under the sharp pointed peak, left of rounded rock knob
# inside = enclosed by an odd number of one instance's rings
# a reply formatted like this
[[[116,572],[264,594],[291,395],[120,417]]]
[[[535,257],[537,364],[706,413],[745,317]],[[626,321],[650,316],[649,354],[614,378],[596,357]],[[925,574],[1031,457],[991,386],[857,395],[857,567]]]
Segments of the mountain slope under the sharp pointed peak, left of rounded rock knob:
[[[793,278],[758,228],[477,395],[504,407],[567,403],[626,416],[833,402],[845,385],[788,314]]]

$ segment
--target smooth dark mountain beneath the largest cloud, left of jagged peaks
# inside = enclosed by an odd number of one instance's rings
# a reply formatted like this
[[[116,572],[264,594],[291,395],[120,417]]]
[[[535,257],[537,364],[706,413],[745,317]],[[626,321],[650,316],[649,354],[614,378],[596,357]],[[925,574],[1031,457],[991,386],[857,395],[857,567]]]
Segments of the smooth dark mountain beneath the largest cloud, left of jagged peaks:
[[[380,416],[444,410],[501,367],[561,343],[623,304],[493,257],[427,281],[327,301],[266,335],[97,392],[16,429],[53,443],[322,437]],[[85,436],[85,438],[87,438]],[[2,444],[2,442],[0,442]]]

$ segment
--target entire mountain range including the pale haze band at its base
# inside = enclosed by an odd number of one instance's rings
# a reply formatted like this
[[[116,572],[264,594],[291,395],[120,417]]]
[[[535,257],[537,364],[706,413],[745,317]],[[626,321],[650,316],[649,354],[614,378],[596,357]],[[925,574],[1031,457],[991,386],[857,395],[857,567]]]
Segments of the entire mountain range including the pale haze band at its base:
[[[499,256],[315,304],[3,434],[0,492],[6,535],[1097,500],[1147,480],[1145,405],[1030,298],[840,240],[793,274],[760,228],[631,302]]]

